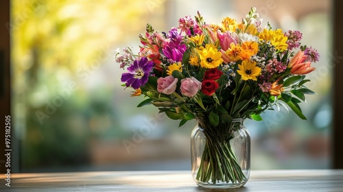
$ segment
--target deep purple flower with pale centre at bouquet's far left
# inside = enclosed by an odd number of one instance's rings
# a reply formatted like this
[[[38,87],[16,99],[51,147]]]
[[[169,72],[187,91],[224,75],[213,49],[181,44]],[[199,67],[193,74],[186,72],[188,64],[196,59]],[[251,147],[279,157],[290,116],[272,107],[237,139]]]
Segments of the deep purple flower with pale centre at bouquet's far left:
[[[125,82],[126,87],[131,86],[137,89],[147,83],[147,77],[149,77],[152,67],[154,67],[154,62],[148,61],[145,57],[141,60],[134,60],[133,64],[128,67],[128,73],[121,75],[121,82]]]

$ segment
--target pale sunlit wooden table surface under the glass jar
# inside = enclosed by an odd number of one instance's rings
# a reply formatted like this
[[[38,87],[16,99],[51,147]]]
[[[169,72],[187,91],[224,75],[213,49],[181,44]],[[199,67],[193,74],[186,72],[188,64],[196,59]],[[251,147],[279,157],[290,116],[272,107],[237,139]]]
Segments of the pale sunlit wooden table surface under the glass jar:
[[[343,191],[343,169],[268,170],[250,173],[239,189],[198,187],[191,171],[12,173],[0,191]]]

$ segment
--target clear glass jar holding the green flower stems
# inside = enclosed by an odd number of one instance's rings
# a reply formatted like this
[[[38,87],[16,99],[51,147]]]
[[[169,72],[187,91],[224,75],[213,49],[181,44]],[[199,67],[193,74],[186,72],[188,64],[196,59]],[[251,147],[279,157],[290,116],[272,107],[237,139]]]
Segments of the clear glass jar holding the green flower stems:
[[[250,134],[244,119],[213,127],[198,121],[191,133],[191,169],[200,187],[242,187],[250,176]]]

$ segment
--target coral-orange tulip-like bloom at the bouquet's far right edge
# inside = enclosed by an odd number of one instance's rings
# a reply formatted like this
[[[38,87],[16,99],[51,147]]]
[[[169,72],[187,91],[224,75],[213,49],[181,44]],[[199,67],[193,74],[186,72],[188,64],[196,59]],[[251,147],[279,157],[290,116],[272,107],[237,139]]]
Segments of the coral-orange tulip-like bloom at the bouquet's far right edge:
[[[298,51],[296,55],[289,61],[288,67],[292,67],[291,73],[294,75],[305,75],[314,71],[316,68],[311,67],[311,62],[305,62],[307,56],[303,51]]]

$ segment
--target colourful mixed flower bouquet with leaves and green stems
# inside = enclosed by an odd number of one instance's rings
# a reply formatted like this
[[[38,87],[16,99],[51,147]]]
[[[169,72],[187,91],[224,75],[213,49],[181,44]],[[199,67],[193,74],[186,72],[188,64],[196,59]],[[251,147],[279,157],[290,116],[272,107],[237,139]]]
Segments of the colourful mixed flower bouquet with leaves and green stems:
[[[126,47],[115,55],[120,68],[127,68],[121,82],[134,89],[132,96],[147,97],[139,107],[152,104],[170,119],[180,120],[180,126],[196,119],[209,140],[207,147],[232,137],[233,128],[226,126],[232,119],[261,121],[261,112],[273,106],[290,108],[306,119],[299,103],[306,94],[315,94],[305,86],[310,81],[305,75],[315,70],[311,62],[319,55],[300,45],[300,32],[283,32],[270,23],[261,27],[261,22],[251,8],[241,22],[226,17],[220,24],[208,24],[198,12],[194,19],[180,19],[168,33],[147,24],[139,36],[139,53]],[[230,152],[229,144],[222,147]],[[203,160],[215,159],[220,152],[213,150],[204,153]],[[234,154],[222,156],[235,161]],[[234,165],[201,169],[198,177],[204,181],[244,178]]]

